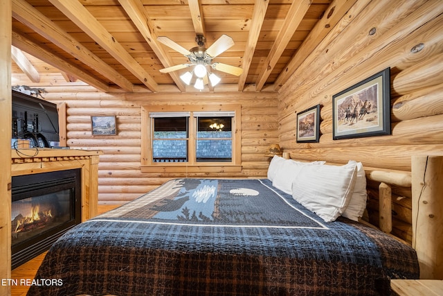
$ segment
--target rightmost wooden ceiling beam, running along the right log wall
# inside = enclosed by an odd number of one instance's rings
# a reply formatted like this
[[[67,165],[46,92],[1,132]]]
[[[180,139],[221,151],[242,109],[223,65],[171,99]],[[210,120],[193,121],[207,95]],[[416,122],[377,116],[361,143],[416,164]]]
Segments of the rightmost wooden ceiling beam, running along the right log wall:
[[[343,19],[346,12],[354,6],[356,0],[335,0],[330,5],[329,8],[323,14],[323,17],[318,21],[316,26],[307,35],[305,41],[300,45],[297,52],[291,60],[288,62],[286,67],[280,73],[278,78],[274,82],[274,89],[280,89],[285,82],[291,77],[291,75],[296,71],[300,64],[307,58],[308,55],[314,51],[316,46],[323,40],[323,38],[334,28],[334,26]]]

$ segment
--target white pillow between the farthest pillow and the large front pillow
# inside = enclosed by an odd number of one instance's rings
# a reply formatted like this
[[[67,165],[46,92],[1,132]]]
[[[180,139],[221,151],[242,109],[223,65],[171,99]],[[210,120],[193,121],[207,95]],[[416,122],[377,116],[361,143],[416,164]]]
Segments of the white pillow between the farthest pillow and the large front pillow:
[[[309,162],[296,162],[291,159],[284,159],[275,174],[272,186],[280,189],[284,193],[292,194],[292,182],[300,173],[303,166],[307,166]]]

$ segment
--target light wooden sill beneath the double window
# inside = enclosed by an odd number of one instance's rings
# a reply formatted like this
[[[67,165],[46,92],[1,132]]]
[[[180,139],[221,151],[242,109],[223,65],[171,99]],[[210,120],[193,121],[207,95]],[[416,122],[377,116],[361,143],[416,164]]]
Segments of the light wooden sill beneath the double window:
[[[242,166],[235,164],[225,165],[186,165],[186,164],[155,164],[151,166],[141,166],[142,173],[240,173]]]

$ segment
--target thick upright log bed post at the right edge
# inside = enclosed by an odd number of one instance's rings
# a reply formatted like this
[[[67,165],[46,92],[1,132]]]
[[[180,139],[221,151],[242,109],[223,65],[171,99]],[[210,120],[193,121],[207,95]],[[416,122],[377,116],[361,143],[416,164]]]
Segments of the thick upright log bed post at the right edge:
[[[411,168],[420,278],[443,279],[443,156],[413,156]]]

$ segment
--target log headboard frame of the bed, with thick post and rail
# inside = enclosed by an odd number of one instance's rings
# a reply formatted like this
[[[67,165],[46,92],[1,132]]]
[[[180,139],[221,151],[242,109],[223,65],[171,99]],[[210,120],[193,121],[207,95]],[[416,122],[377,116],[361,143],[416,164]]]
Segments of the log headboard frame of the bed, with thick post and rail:
[[[364,169],[368,189],[369,183],[378,184],[379,220],[369,223],[370,218],[365,216],[361,222],[371,226],[378,224],[374,227],[412,245],[419,260],[420,279],[443,279],[443,156],[413,156],[410,172]],[[410,191],[410,198],[402,202],[412,209],[408,213],[412,216],[412,223],[406,225],[407,231],[400,235],[391,234],[395,220],[392,215],[392,187]],[[412,238],[407,232],[412,233]]]

